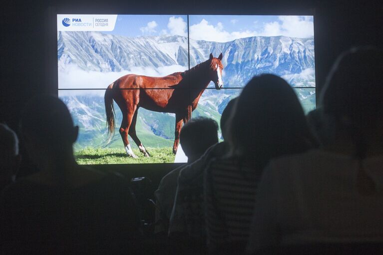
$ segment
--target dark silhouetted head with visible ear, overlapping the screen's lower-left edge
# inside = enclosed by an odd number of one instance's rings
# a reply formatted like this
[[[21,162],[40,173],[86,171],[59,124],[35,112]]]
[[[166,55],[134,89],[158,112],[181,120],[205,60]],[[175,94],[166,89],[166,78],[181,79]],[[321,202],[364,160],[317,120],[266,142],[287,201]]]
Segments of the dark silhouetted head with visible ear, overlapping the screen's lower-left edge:
[[[29,156],[35,162],[45,157],[72,154],[78,127],[66,105],[54,96],[37,96],[24,107],[21,115],[21,132]]]

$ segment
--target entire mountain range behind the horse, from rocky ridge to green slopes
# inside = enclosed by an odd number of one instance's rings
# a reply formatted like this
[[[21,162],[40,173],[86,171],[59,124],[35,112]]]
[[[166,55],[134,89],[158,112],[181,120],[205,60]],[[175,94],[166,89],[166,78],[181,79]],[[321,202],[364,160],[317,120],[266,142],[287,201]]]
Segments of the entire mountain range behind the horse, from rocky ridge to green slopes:
[[[287,36],[255,36],[229,42],[190,41],[190,66],[208,59],[210,53],[223,53],[224,87],[243,87],[254,75],[274,73],[284,77],[296,88],[306,111],[315,108],[314,39]],[[75,65],[84,73],[129,73],[137,67],[160,69],[168,66],[188,66],[187,37],[149,36],[129,38],[101,32],[63,32],[57,35],[58,69],[65,72]],[[69,73],[70,75],[70,73]],[[74,74],[73,74],[74,75]],[[86,78],[86,77],[85,77]],[[60,79],[60,76],[59,76]],[[59,80],[59,86],[63,81]],[[65,84],[70,87],[71,84]],[[105,83],[105,88],[108,84]],[[214,87],[214,85],[213,85]],[[310,88],[301,88],[310,87]],[[73,87],[74,88],[74,87]],[[78,87],[76,87],[78,88]],[[239,95],[241,89],[206,89],[194,116],[206,116],[218,123],[228,101]],[[90,147],[122,147],[116,132],[107,144],[105,108],[101,94],[79,94],[65,91],[60,98],[68,106],[80,127],[76,149]],[[121,112],[117,105],[116,123]],[[145,146],[164,147],[173,144],[174,115],[140,108],[137,135]]]

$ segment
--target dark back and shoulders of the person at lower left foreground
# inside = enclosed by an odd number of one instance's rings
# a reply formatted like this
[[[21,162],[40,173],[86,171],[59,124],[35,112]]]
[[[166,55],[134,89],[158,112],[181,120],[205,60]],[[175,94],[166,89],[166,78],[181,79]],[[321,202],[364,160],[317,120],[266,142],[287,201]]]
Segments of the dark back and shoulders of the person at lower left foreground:
[[[129,183],[115,174],[70,189],[22,179],[4,190],[0,206],[10,244],[96,247],[140,236]]]

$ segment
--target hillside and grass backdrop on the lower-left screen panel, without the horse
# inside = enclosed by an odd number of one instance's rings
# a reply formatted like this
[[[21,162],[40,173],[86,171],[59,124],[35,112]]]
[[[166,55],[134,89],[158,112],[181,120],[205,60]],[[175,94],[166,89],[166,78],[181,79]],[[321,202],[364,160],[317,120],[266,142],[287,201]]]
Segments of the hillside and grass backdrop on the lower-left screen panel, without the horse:
[[[73,121],[79,126],[74,150],[80,164],[124,164],[124,163],[169,163],[174,161],[175,114],[138,110],[135,131],[152,157],[141,157],[140,151],[131,140],[131,148],[139,159],[126,156],[118,129],[110,137],[106,127],[104,106],[105,90],[59,90],[58,96],[68,106]],[[115,122],[119,127],[122,113],[114,103]],[[129,138],[131,139],[131,138]]]

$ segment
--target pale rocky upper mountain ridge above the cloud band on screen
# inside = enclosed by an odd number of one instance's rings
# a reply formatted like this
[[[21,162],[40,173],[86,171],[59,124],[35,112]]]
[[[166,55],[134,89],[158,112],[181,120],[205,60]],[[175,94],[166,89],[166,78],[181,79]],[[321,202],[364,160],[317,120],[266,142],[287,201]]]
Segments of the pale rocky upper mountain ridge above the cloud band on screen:
[[[69,64],[98,72],[188,66],[187,37],[179,35],[130,38],[94,31],[59,31],[57,40],[59,71]],[[242,87],[260,73],[297,74],[315,65],[312,38],[254,36],[229,42],[189,41],[191,67],[208,59],[210,53],[223,53],[226,86]]]

